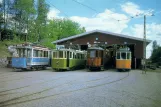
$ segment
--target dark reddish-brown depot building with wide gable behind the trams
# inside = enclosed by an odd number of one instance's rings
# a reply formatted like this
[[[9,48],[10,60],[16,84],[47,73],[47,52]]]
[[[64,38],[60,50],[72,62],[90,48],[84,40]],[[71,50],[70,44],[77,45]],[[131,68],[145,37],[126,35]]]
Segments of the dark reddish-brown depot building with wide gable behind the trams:
[[[112,33],[108,31],[93,30],[82,34],[70,36],[60,40],[53,41],[56,45],[79,45],[81,50],[87,50],[88,47],[95,43],[100,43],[105,49],[110,50],[111,62],[108,65],[114,64],[112,61],[115,57],[116,45],[127,45],[132,52],[132,68],[140,68],[141,59],[143,59],[143,38],[136,38],[128,35]],[[146,46],[151,40],[146,40]],[[112,67],[113,65],[111,65]]]

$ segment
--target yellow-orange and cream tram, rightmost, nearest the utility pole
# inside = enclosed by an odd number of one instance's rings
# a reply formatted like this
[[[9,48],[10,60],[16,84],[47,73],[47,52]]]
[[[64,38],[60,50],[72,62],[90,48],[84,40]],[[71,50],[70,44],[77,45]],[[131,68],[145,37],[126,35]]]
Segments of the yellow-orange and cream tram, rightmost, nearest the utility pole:
[[[131,69],[131,51],[128,47],[117,50],[116,69],[118,71],[129,71]]]

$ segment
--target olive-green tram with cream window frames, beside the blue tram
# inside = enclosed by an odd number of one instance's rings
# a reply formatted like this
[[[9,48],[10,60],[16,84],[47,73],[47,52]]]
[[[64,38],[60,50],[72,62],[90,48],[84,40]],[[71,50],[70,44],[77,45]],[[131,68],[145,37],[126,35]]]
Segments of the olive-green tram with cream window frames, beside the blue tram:
[[[73,70],[86,66],[86,51],[59,49],[52,52],[54,70]]]

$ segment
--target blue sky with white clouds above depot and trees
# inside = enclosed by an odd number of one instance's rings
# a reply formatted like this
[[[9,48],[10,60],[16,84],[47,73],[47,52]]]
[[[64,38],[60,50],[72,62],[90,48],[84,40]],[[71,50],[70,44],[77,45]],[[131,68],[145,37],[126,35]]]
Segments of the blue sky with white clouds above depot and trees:
[[[78,22],[87,31],[99,29],[143,37],[143,14],[147,15],[147,38],[161,44],[161,0],[46,0],[50,5],[48,18],[67,17]],[[54,8],[54,6],[57,7]],[[59,10],[58,10],[59,9]],[[65,14],[67,15],[65,15]],[[155,16],[150,16],[154,13]],[[141,16],[129,19],[131,16]],[[128,20],[124,20],[128,19]],[[117,21],[122,20],[122,21]],[[147,57],[152,51],[152,43],[147,46]]]

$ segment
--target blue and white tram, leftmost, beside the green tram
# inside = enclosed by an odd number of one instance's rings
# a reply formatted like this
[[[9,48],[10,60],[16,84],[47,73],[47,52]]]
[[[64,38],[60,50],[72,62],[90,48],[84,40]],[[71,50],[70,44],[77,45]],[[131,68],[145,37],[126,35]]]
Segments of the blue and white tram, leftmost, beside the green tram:
[[[12,67],[16,69],[45,69],[50,66],[51,51],[40,46],[17,46],[17,57],[12,57]]]

